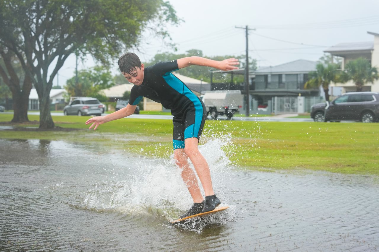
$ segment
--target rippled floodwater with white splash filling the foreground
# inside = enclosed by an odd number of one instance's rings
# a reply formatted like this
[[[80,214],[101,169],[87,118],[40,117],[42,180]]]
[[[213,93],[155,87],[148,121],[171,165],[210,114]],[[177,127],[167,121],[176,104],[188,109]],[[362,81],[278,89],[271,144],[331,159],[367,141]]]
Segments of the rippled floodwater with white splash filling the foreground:
[[[169,222],[191,198],[171,161],[0,139],[0,250],[379,249],[375,178],[243,171],[229,164],[223,144],[209,141],[201,151],[229,209],[176,227]]]

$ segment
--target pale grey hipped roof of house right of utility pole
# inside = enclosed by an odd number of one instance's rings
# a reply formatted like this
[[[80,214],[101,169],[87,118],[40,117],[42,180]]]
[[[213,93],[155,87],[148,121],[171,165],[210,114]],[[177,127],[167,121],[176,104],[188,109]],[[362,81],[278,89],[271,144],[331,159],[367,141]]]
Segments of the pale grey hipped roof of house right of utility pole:
[[[255,70],[255,75],[262,74],[282,74],[282,73],[309,73],[316,70],[316,61],[307,61],[305,59],[298,59],[281,65],[273,67],[260,67]]]

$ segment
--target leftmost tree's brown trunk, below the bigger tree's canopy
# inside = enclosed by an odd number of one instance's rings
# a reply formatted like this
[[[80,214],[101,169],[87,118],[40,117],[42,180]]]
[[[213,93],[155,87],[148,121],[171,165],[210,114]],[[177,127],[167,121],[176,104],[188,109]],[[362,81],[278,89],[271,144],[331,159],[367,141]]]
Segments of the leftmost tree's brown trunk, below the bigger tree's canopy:
[[[32,81],[25,75],[19,59],[13,51],[2,47],[0,44],[0,77],[5,85],[0,89],[0,98],[8,100],[9,92],[13,97],[13,118],[14,123],[23,123],[28,119],[28,101]],[[3,97],[4,96],[4,97]]]

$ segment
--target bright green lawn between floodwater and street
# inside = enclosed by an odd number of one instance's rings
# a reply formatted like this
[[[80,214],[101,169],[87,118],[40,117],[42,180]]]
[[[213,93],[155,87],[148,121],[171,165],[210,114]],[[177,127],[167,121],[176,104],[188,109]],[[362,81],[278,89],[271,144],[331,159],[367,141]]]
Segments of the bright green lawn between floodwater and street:
[[[10,121],[12,114],[0,114]],[[88,117],[56,116],[56,126],[80,131],[0,131],[0,138],[99,142],[142,155],[168,158],[172,152],[172,121],[124,118],[88,130]],[[39,116],[29,116],[39,120]],[[38,124],[19,125],[38,127]],[[321,170],[379,175],[377,123],[255,122],[207,120],[204,140],[230,134],[224,150],[240,167],[252,170]],[[136,136],[137,135],[137,136]],[[143,151],[141,151],[143,149]]]

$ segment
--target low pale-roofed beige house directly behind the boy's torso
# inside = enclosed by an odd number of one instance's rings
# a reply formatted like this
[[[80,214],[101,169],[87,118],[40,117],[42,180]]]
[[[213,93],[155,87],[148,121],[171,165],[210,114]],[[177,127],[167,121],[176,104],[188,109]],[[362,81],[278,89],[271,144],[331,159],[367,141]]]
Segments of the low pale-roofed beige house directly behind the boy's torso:
[[[195,94],[200,95],[201,92],[210,90],[210,84],[208,82],[194,79],[188,76],[181,75],[179,73],[172,72],[177,76],[181,81],[183,81],[186,86],[191,89]],[[130,92],[134,84],[121,84],[117,86],[110,87],[109,89],[103,89],[105,96],[109,98],[109,101],[121,100],[125,91]],[[143,98],[143,109],[152,110],[152,111],[161,111],[162,105],[155,101],[150,100],[149,98]]]

